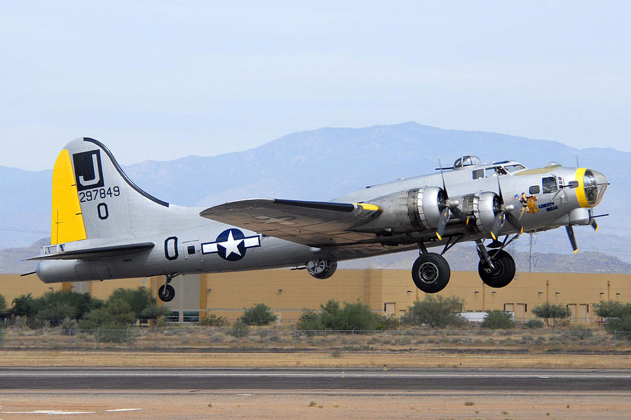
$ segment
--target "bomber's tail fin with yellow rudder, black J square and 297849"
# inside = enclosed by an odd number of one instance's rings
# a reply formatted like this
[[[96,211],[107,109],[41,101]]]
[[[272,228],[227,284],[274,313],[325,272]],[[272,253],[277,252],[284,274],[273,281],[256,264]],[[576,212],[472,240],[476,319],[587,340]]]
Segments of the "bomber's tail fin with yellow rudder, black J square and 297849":
[[[101,142],[69,142],[53,169],[51,245],[88,238],[134,238],[170,217],[169,203],[125,175]]]

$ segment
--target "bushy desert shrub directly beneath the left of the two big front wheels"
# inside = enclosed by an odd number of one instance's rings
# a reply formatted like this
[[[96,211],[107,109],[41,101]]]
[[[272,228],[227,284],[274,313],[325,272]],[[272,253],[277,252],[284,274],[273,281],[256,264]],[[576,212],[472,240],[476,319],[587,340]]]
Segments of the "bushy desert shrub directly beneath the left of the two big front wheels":
[[[464,306],[463,299],[456,296],[442,297],[426,294],[422,301],[417,300],[410,306],[401,322],[409,325],[427,325],[428,327],[462,327],[467,320],[460,315]]]

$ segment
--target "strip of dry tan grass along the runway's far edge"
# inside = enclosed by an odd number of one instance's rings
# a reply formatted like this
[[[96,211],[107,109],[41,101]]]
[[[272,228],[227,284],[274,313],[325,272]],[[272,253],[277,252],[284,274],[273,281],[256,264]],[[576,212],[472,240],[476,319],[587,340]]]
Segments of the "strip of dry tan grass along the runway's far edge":
[[[3,367],[522,367],[631,368],[631,355],[454,353],[152,353],[0,351]]]

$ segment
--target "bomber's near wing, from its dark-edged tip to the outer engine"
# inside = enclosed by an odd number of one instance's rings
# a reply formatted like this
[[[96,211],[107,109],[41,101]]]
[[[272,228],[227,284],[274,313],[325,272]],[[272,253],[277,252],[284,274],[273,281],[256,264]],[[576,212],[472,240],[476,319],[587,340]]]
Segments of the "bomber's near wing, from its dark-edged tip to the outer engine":
[[[374,240],[372,233],[353,232],[381,213],[374,204],[295,200],[242,200],[215,205],[200,215],[226,224],[315,247]]]

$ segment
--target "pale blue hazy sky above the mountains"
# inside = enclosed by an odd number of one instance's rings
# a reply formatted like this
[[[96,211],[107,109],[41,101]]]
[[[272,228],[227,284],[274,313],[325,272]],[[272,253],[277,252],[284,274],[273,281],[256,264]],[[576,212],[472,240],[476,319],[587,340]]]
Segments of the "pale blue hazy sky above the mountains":
[[[627,142],[625,1],[2,1],[0,165],[123,164],[416,121]]]

